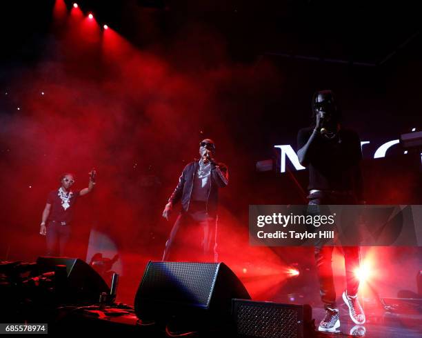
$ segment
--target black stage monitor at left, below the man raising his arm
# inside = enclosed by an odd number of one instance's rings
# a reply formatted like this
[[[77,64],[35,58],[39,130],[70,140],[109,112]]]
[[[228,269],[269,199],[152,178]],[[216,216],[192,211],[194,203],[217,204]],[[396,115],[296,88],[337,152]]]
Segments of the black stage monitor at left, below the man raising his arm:
[[[56,273],[56,288],[64,303],[98,303],[102,292],[110,295],[106,281],[79,258],[38,257],[37,273],[41,275],[45,272]]]

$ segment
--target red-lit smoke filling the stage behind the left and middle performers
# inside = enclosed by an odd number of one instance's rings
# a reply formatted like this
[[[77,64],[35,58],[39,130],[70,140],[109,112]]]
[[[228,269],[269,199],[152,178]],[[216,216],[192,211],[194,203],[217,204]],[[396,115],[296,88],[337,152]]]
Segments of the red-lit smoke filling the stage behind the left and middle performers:
[[[312,252],[292,248],[288,256],[249,246],[248,203],[263,196],[248,181],[254,167],[248,144],[256,130],[230,130],[231,123],[259,128],[266,98],[283,86],[274,66],[263,63],[257,72],[231,64],[225,41],[201,26],[181,30],[178,43],[139,50],[112,27],[100,29],[80,8],[66,12],[63,1],[56,1],[53,17],[43,57],[10,83],[12,114],[1,115],[1,258],[43,255],[38,230],[48,192],[61,172],[75,172],[75,188],[85,188],[94,167],[97,187],[77,205],[70,255],[86,257],[92,228],[105,233],[123,262],[121,297],[132,301],[145,263],[161,259],[174,221],[161,218],[166,199],[183,166],[197,156],[199,141],[210,137],[230,171],[221,191],[219,260],[254,299],[275,297],[292,278],[290,263],[308,262]],[[266,202],[279,203],[285,187],[276,182],[270,189]],[[334,272],[342,278],[337,266]]]

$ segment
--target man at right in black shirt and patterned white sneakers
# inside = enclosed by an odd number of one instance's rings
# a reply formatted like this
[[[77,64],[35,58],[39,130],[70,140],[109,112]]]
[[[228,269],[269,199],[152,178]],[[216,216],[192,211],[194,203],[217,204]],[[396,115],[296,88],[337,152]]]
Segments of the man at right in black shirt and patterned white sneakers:
[[[309,169],[309,205],[360,204],[363,181],[360,169],[361,142],[356,132],[344,128],[342,116],[331,90],[321,90],[312,98],[312,126],[299,130],[297,155]],[[343,246],[347,288],[342,298],[355,324],[365,323],[365,314],[357,296],[360,265],[359,246]],[[339,309],[332,276],[332,246],[315,244],[314,255],[325,317],[320,331],[334,332],[340,326]]]

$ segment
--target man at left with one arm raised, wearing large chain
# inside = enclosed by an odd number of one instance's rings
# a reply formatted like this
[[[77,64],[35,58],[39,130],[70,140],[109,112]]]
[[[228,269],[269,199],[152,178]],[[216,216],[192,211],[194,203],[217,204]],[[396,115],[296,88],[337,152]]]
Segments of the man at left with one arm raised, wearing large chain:
[[[48,194],[46,207],[41,219],[40,235],[46,236],[47,256],[63,256],[70,237],[70,223],[73,217],[74,203],[79,196],[88,194],[95,186],[97,172],[91,170],[88,188],[72,190],[74,175],[66,172],[60,177],[60,187]],[[57,244],[59,250],[57,251]]]

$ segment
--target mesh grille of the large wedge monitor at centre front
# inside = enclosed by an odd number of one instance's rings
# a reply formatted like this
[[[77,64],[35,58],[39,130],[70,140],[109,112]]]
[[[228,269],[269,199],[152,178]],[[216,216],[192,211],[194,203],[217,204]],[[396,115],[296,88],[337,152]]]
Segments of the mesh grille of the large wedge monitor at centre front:
[[[150,296],[158,301],[172,299],[180,304],[208,308],[218,266],[214,263],[150,262],[142,281],[141,297],[148,299]]]

